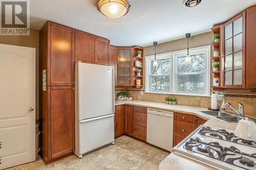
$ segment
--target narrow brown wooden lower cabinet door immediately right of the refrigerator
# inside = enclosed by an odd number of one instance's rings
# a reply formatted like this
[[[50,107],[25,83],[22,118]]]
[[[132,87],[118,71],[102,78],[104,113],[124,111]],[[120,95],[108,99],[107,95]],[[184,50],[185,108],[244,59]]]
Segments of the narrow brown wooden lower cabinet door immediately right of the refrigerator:
[[[115,129],[115,137],[121,136],[124,133],[124,106],[119,105],[116,106],[116,129]]]

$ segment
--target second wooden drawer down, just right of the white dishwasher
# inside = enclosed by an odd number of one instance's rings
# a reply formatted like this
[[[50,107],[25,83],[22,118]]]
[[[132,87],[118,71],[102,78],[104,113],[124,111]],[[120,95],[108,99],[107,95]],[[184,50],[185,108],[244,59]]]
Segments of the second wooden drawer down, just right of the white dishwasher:
[[[176,136],[180,138],[187,137],[187,135],[189,135],[193,131],[193,124],[180,121],[177,121],[176,123]]]

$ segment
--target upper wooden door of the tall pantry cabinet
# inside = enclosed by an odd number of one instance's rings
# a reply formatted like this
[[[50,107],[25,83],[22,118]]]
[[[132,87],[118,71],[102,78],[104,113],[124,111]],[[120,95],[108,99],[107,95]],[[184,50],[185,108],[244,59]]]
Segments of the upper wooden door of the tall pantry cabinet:
[[[75,30],[47,22],[48,85],[72,86],[74,78]]]

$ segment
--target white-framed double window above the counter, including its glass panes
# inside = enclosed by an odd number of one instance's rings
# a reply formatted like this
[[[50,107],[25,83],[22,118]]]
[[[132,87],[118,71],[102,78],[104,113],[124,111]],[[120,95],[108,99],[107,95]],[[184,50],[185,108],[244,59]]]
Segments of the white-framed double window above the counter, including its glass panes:
[[[186,50],[146,57],[146,92],[209,95],[210,46],[189,50],[191,62],[186,62]]]

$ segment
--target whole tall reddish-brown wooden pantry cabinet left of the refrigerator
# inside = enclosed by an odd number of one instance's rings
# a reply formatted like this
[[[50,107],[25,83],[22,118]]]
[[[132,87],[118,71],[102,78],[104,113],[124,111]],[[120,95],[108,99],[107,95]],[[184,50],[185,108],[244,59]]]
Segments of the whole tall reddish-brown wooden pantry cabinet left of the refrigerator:
[[[75,30],[48,21],[40,31],[42,159],[73,153]]]

